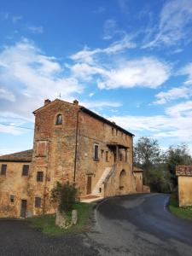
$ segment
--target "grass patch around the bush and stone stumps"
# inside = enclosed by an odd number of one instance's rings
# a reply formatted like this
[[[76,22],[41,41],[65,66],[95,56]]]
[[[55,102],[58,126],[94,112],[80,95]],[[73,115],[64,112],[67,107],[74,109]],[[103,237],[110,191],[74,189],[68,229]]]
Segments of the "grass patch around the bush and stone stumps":
[[[84,231],[89,227],[92,207],[93,204],[76,202],[73,209],[78,210],[78,224],[67,230],[55,226],[55,214],[40,215],[37,217],[27,218],[27,220],[34,228],[49,235],[59,236],[68,232],[76,233]],[[68,218],[70,219],[71,216],[68,215]]]

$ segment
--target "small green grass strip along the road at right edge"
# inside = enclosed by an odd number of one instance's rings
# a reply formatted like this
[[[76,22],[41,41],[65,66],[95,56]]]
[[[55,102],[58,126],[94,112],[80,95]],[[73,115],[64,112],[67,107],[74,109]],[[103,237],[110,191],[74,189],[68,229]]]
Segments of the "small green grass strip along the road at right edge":
[[[176,198],[171,195],[169,201],[169,210],[179,218],[192,220],[192,207],[178,207]]]

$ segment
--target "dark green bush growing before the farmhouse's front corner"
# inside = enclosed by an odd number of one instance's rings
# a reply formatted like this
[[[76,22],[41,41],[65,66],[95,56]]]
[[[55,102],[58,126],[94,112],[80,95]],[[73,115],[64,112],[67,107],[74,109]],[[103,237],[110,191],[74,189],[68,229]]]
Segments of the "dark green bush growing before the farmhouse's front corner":
[[[60,212],[70,212],[78,198],[79,191],[74,185],[69,183],[56,183],[55,188],[51,191],[51,199],[58,203]]]

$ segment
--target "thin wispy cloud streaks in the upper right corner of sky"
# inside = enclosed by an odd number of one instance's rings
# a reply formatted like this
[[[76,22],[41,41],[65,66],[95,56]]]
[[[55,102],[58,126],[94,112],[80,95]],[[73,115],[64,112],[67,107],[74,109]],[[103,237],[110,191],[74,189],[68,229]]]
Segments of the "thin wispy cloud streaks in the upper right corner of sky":
[[[172,46],[184,40],[191,40],[192,1],[166,1],[160,13],[158,32],[143,48],[156,47],[161,44]]]

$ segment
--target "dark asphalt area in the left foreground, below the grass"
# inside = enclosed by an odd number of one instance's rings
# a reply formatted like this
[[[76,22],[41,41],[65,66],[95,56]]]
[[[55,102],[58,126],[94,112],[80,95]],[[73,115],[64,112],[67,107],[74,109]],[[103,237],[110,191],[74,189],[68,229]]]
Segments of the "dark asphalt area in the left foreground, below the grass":
[[[96,256],[84,234],[46,236],[26,220],[0,219],[0,256]]]

